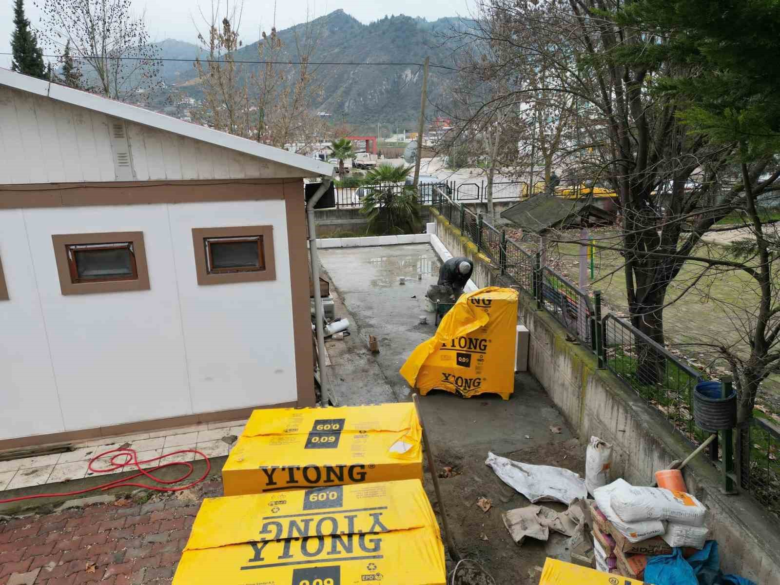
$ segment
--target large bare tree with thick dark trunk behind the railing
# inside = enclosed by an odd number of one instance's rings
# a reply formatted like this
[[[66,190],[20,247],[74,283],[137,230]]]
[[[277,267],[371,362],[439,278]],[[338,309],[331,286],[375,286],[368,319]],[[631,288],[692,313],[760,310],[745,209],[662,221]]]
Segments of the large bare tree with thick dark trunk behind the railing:
[[[478,40],[505,45],[505,62],[497,68],[504,78],[529,67],[546,72],[531,91],[518,87],[517,101],[533,101],[541,91],[576,98],[576,124],[584,137],[562,144],[569,151],[568,165],[577,167],[577,176],[603,177],[619,193],[622,232],[612,246],[624,255],[630,318],[663,344],[669,284],[704,232],[744,204],[745,182],[724,181],[736,145],[711,143],[679,119],[678,100],[654,91],[656,78],[697,76],[696,66],[673,62],[659,51],[663,37],[605,14],[620,5],[618,0],[489,0],[480,3],[482,20],[501,27]],[[633,55],[644,51],[647,56],[629,58],[631,48],[637,49]],[[578,156],[583,151],[588,156]],[[753,162],[746,176],[755,181],[767,165],[768,158]],[[699,180],[692,187],[693,176]],[[757,183],[757,193],[770,185]],[[642,379],[660,379],[662,363],[651,346],[640,347]]]

